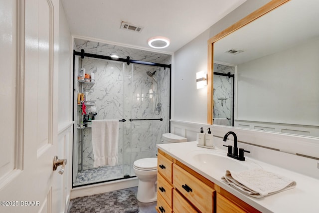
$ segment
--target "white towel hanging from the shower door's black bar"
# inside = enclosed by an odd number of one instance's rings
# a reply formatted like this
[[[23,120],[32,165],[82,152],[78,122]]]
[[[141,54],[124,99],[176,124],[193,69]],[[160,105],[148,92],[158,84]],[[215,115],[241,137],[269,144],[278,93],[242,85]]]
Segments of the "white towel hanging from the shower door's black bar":
[[[94,167],[118,162],[119,120],[92,120]]]

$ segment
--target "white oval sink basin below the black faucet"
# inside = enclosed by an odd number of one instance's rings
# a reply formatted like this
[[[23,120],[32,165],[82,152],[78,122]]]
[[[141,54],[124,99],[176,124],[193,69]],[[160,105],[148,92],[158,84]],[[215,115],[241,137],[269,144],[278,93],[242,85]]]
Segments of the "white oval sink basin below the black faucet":
[[[227,157],[227,153],[217,151],[197,150],[189,153],[192,161],[199,168],[208,168],[214,172],[221,172],[225,174],[226,170],[243,171],[253,168],[261,168],[253,161],[246,159],[239,161]]]

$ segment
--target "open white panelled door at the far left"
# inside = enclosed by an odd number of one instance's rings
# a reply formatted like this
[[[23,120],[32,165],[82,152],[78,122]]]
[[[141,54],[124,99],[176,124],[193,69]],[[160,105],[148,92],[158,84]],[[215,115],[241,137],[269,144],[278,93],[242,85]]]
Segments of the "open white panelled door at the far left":
[[[56,209],[58,15],[59,0],[0,0],[1,213]]]

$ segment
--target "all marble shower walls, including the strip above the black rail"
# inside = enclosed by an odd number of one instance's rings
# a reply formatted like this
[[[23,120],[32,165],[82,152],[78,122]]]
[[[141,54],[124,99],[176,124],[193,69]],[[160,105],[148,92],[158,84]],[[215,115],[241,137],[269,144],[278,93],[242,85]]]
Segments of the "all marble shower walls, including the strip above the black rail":
[[[101,50],[101,48],[104,49]],[[110,52],[114,52],[116,48]],[[106,44],[82,42],[77,46],[77,51],[79,49],[107,55],[105,52],[108,48]],[[142,55],[147,53],[144,50],[132,50],[132,52],[125,50],[124,52],[130,54],[132,59],[137,60],[143,59]],[[144,61],[153,60],[157,54],[150,54],[151,59],[144,59]],[[170,64],[170,57],[162,57],[159,61],[160,57],[156,57],[156,62]],[[156,157],[156,144],[160,143],[162,133],[169,130],[170,70],[139,64],[127,65],[126,63],[88,57],[82,60],[82,67],[86,69],[87,73],[95,73],[96,83],[94,85],[84,84],[83,86],[84,91],[89,92],[87,99],[96,100],[98,114],[95,119],[124,118],[127,120],[120,122],[118,164],[132,165],[137,159]],[[147,71],[153,73],[155,70],[157,70],[155,78],[160,84],[159,87],[153,78],[146,74]],[[154,113],[159,96],[158,90],[160,90],[160,103],[162,104],[160,115]],[[130,118],[163,118],[163,121],[130,122]],[[81,156],[80,143],[79,141],[79,156]],[[82,154],[83,169],[92,169],[94,156],[90,128],[84,130]],[[80,159],[78,163],[80,167]],[[134,175],[132,166],[126,166],[125,169],[124,174]]]

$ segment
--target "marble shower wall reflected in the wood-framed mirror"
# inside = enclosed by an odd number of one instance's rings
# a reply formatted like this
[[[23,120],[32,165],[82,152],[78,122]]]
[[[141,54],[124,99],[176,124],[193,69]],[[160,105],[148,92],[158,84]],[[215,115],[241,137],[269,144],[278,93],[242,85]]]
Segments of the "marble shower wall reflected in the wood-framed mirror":
[[[214,64],[214,72],[225,73],[230,72],[235,73],[235,67]],[[214,118],[231,118],[232,115],[232,78],[226,76],[214,75],[214,108],[213,117]],[[220,98],[227,98],[224,100],[218,100]],[[231,126],[231,120],[228,120],[228,125]]]

